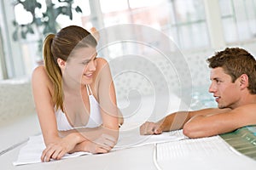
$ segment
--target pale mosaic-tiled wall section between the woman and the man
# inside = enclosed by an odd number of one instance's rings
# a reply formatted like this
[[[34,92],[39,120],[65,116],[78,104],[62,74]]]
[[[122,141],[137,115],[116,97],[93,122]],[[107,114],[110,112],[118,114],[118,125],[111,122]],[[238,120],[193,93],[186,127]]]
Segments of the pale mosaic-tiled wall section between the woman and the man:
[[[180,93],[192,87],[206,87],[210,83],[206,59],[212,51],[178,54],[168,58],[111,60],[110,66],[118,99],[147,94]],[[172,54],[171,54],[172,55]],[[183,58],[179,62],[178,58]],[[184,63],[185,62],[185,63]],[[136,93],[137,92],[137,93]]]

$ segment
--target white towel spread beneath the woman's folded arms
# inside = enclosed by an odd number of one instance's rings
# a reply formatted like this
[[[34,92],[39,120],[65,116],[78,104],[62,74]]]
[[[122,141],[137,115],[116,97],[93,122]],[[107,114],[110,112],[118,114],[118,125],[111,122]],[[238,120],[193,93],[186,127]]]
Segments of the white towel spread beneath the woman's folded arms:
[[[113,147],[113,150],[122,150],[131,147],[138,147],[146,144],[157,144],[168,141],[177,141],[186,138],[182,131],[175,131],[171,133],[162,133],[160,135],[140,135],[138,129],[122,130],[119,133],[118,143]],[[25,146],[20,149],[17,161],[13,164],[24,165],[41,162],[42,151],[45,149],[43,135],[32,136],[29,138]],[[90,155],[89,152],[75,152],[73,154],[66,154],[61,159],[70,157]],[[51,160],[54,161],[54,160]]]

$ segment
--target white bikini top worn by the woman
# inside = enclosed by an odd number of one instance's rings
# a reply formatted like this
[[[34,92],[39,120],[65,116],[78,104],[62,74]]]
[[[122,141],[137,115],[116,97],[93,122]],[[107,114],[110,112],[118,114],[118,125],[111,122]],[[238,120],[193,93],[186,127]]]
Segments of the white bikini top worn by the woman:
[[[90,86],[86,85],[87,88],[87,94],[89,96],[89,102],[90,102],[90,117],[87,122],[87,124],[84,127],[99,127],[102,125],[102,115],[100,111],[100,105],[97,102],[96,98],[93,96]],[[89,92],[90,91],[90,92]],[[67,116],[65,113],[59,109],[58,111],[55,111],[56,121],[57,121],[57,127],[60,131],[65,130],[71,130],[74,128],[79,127],[72,127],[69,122],[67,121]]]

